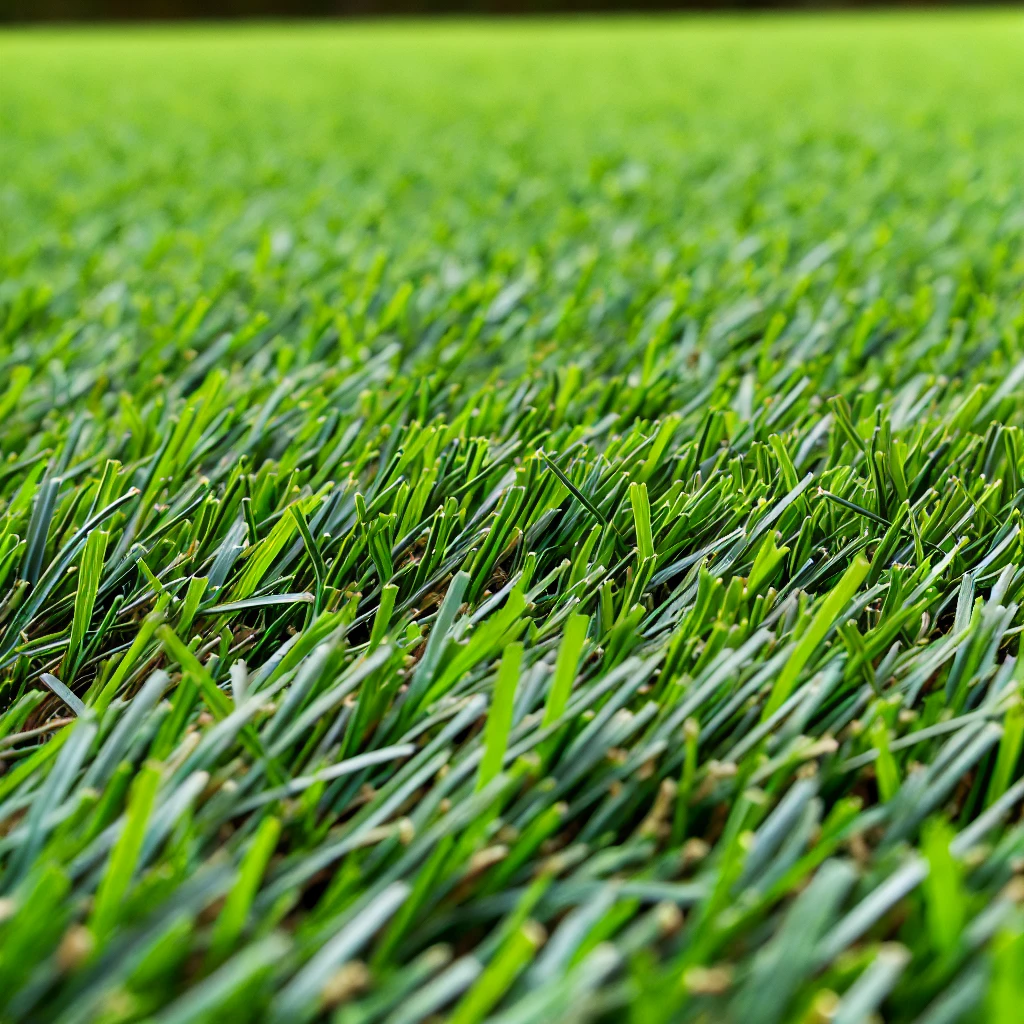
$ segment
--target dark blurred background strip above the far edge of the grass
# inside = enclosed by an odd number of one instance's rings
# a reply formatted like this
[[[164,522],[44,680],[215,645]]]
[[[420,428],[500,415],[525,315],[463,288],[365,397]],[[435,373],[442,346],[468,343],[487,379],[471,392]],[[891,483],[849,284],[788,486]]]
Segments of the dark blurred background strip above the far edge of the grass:
[[[971,0],[967,0],[968,3]],[[959,0],[958,5],[964,5]],[[903,0],[900,6],[938,6]],[[987,4],[990,6],[991,4]],[[0,22],[133,22],[240,17],[571,14],[600,11],[856,8],[862,0],[0,0]]]

